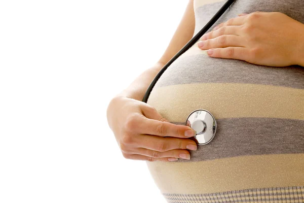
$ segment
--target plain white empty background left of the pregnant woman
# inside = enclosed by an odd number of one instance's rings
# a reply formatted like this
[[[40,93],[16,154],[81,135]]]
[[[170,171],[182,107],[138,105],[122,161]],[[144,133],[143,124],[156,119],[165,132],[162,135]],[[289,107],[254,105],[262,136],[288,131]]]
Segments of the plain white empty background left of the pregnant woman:
[[[161,57],[186,4],[0,2],[0,202],[165,202],[106,108]]]

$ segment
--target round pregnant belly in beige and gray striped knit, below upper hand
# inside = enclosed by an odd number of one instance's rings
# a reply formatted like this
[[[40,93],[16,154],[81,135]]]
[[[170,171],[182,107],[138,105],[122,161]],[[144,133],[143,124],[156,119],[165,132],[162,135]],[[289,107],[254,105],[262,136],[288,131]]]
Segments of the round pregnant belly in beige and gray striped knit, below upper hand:
[[[147,104],[174,124],[205,109],[214,139],[191,160],[147,162],[168,202],[303,202],[304,67],[211,58],[194,45]]]

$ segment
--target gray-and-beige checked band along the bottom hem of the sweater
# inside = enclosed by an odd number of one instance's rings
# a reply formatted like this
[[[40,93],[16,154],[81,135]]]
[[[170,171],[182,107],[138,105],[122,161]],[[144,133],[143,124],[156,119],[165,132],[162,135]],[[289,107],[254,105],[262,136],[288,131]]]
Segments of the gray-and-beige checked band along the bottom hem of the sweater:
[[[268,192],[269,194],[262,194],[261,192]],[[246,194],[251,192],[253,194]],[[198,203],[208,202],[214,200],[215,202],[255,202],[259,201],[282,201],[282,200],[304,200],[304,187],[303,186],[290,186],[290,187],[274,187],[274,188],[252,188],[246,190],[227,191],[218,193],[207,194],[169,194],[163,193],[168,202],[184,202],[193,201]],[[285,197],[276,197],[273,195],[285,195]],[[247,197],[246,200],[237,200],[235,198]],[[249,198],[248,198],[249,197]]]

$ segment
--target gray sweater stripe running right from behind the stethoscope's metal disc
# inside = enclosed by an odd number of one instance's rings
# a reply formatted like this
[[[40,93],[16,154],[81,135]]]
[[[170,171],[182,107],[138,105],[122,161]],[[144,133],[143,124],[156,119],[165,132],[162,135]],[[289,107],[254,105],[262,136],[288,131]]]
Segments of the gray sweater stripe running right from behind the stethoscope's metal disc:
[[[216,122],[214,139],[207,145],[198,145],[197,151],[189,150],[190,160],[178,159],[176,162],[245,155],[304,153],[304,120],[225,118]]]

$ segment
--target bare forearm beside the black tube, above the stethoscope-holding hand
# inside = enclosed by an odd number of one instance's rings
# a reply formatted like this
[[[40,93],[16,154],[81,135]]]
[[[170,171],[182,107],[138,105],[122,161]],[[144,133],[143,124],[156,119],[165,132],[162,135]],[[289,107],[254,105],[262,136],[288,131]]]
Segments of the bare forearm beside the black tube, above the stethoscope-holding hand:
[[[125,96],[141,101],[148,86],[164,65],[165,64],[161,62],[156,63],[144,71],[142,74],[140,74],[126,89],[124,89],[117,96]]]

